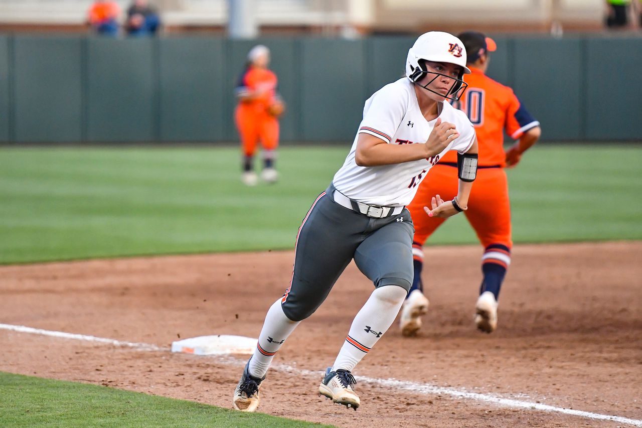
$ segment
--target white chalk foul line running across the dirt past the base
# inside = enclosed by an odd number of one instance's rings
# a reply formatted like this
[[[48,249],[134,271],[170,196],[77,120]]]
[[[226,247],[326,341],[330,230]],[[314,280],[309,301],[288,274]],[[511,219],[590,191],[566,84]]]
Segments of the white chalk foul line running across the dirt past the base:
[[[47,336],[53,336],[53,337],[62,337],[64,339],[74,339],[74,340],[80,340],[80,341],[105,343],[105,344],[111,344],[113,346],[124,346],[124,347],[135,348],[137,350],[143,350],[143,351],[168,352],[170,350],[169,348],[164,348],[164,347],[160,347],[160,346],[157,346],[154,344],[148,344],[148,343],[117,341],[114,339],[106,339],[104,337],[96,337],[92,335],[55,332],[51,330],[42,330],[40,328],[31,328],[31,327],[19,326],[19,325],[0,324],[0,330],[12,330],[14,332],[21,332],[21,333],[40,334],[40,335],[47,335]],[[234,364],[238,366],[243,366],[247,362],[246,360],[241,360],[234,357],[216,357],[216,361],[220,361],[227,364]],[[275,364],[271,366],[271,368],[274,370],[285,371],[287,373],[303,375],[306,377],[321,377],[323,375],[322,371],[300,369],[300,368],[296,368],[296,367],[288,366],[284,364]],[[422,384],[419,382],[410,382],[407,380],[378,379],[378,378],[364,377],[364,376],[357,376],[356,379],[359,382],[365,382],[367,384],[372,384],[378,387],[394,388],[399,391],[409,391],[412,393],[421,393],[424,395],[449,395],[455,398],[464,398],[467,400],[487,402],[487,403],[495,404],[496,406],[499,406],[499,407],[511,407],[516,409],[562,413],[565,415],[580,416],[582,418],[589,418],[589,419],[596,419],[596,420],[610,420],[612,422],[620,422],[621,424],[629,424],[629,425],[634,425],[636,427],[642,427],[642,420],[624,418],[622,416],[602,415],[600,413],[592,413],[592,412],[575,410],[575,409],[565,409],[564,407],[548,406],[547,404],[534,403],[534,402],[528,402],[528,401],[522,401],[522,400],[512,400],[510,398],[495,397],[493,395],[473,393],[473,392],[462,391],[460,389],[454,389],[454,388],[444,388],[440,386]]]

